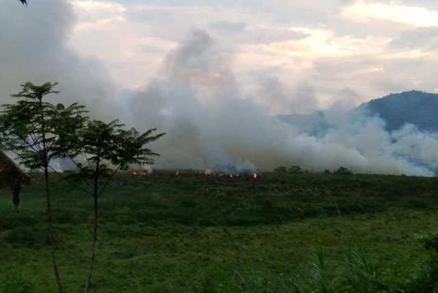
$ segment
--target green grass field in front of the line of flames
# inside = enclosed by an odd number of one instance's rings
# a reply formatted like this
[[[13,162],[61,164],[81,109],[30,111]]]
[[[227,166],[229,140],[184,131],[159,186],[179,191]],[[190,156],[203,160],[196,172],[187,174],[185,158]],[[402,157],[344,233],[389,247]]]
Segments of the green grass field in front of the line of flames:
[[[62,279],[80,292],[92,199],[52,186]],[[438,231],[437,196],[437,179],[421,177],[119,175],[99,200],[92,292],[409,292],[430,259],[417,238]],[[0,292],[56,292],[46,231],[40,179],[19,213],[0,194]]]

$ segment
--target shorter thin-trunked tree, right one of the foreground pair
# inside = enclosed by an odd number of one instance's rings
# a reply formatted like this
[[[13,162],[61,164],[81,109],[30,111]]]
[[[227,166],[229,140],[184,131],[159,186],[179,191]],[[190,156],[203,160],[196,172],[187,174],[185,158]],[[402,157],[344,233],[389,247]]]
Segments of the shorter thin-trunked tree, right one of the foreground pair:
[[[153,157],[159,154],[144,147],[145,144],[153,142],[165,133],[152,134],[157,129],[149,129],[140,136],[132,136],[131,131],[123,130],[123,126],[114,120],[110,123],[103,123],[99,120],[92,120],[80,132],[66,140],[60,140],[59,153],[77,164],[80,172],[71,177],[79,177],[87,180],[92,186],[90,192],[94,199],[93,205],[93,233],[90,266],[86,279],[84,293],[90,290],[93,266],[96,259],[96,244],[99,222],[99,197],[105,190],[107,183],[118,170],[127,170],[131,164],[153,164]],[[77,162],[80,158],[85,160],[84,165]],[[114,167],[110,169],[108,164]],[[106,177],[105,182],[101,182]],[[103,183],[103,184],[101,184]]]

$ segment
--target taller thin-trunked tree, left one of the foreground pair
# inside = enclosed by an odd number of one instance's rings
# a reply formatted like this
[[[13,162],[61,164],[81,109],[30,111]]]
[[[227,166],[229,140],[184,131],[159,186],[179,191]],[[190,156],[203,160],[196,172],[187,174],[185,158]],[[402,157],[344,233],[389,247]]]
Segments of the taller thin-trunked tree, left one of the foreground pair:
[[[46,83],[42,86],[35,86],[30,82],[23,84],[21,92],[11,96],[18,101],[3,105],[0,134],[3,149],[16,153],[18,160],[28,168],[44,172],[51,259],[58,292],[64,292],[55,254],[49,162],[60,156],[59,145],[66,145],[65,141],[74,138],[75,133],[83,128],[87,118],[83,116],[86,112],[85,107],[77,103],[64,107],[62,104],[55,106],[46,102],[45,98],[49,94],[59,93],[54,90],[55,86],[56,83]],[[69,132],[63,133],[66,129]]]

